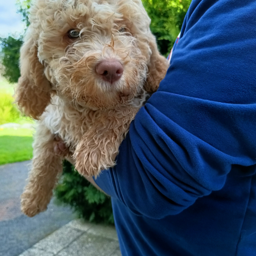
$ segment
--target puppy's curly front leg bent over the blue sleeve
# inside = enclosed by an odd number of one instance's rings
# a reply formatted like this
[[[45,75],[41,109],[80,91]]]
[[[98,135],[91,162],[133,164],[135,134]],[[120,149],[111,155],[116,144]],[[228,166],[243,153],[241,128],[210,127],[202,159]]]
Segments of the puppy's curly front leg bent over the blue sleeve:
[[[76,169],[83,176],[97,176],[115,165],[123,141],[138,108],[125,107],[102,112],[77,145]]]

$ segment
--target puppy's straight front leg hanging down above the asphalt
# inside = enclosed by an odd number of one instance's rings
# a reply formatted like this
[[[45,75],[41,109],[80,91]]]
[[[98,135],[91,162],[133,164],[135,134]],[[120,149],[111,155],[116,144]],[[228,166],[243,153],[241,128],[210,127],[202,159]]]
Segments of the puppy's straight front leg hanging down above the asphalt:
[[[21,196],[21,209],[29,217],[45,211],[53,195],[53,189],[62,172],[61,149],[58,154],[58,141],[42,123],[36,129],[33,144],[32,169],[28,184]]]

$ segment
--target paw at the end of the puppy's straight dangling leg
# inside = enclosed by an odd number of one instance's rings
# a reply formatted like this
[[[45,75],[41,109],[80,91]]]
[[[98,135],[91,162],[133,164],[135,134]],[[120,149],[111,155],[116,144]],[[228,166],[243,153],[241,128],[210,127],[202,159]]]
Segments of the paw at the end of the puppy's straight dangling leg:
[[[30,191],[24,191],[21,195],[21,210],[29,217],[33,217],[47,210],[48,203],[48,198],[43,197],[40,192],[32,193]]]

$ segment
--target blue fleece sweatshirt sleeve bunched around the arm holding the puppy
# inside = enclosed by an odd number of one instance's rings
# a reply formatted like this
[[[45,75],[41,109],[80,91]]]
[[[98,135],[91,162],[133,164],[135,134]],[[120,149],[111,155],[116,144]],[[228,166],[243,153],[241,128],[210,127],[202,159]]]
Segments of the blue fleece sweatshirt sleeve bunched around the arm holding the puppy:
[[[95,180],[135,214],[179,214],[256,164],[255,12],[255,1],[192,1],[167,76]]]

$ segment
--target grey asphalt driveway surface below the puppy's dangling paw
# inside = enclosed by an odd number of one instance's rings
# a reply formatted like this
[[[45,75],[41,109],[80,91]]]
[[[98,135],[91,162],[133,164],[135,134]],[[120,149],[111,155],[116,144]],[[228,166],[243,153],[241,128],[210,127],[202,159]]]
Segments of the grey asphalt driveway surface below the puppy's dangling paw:
[[[75,219],[70,208],[53,202],[46,212],[33,218],[22,214],[19,197],[29,164],[25,161],[0,166],[0,256],[17,256]]]

